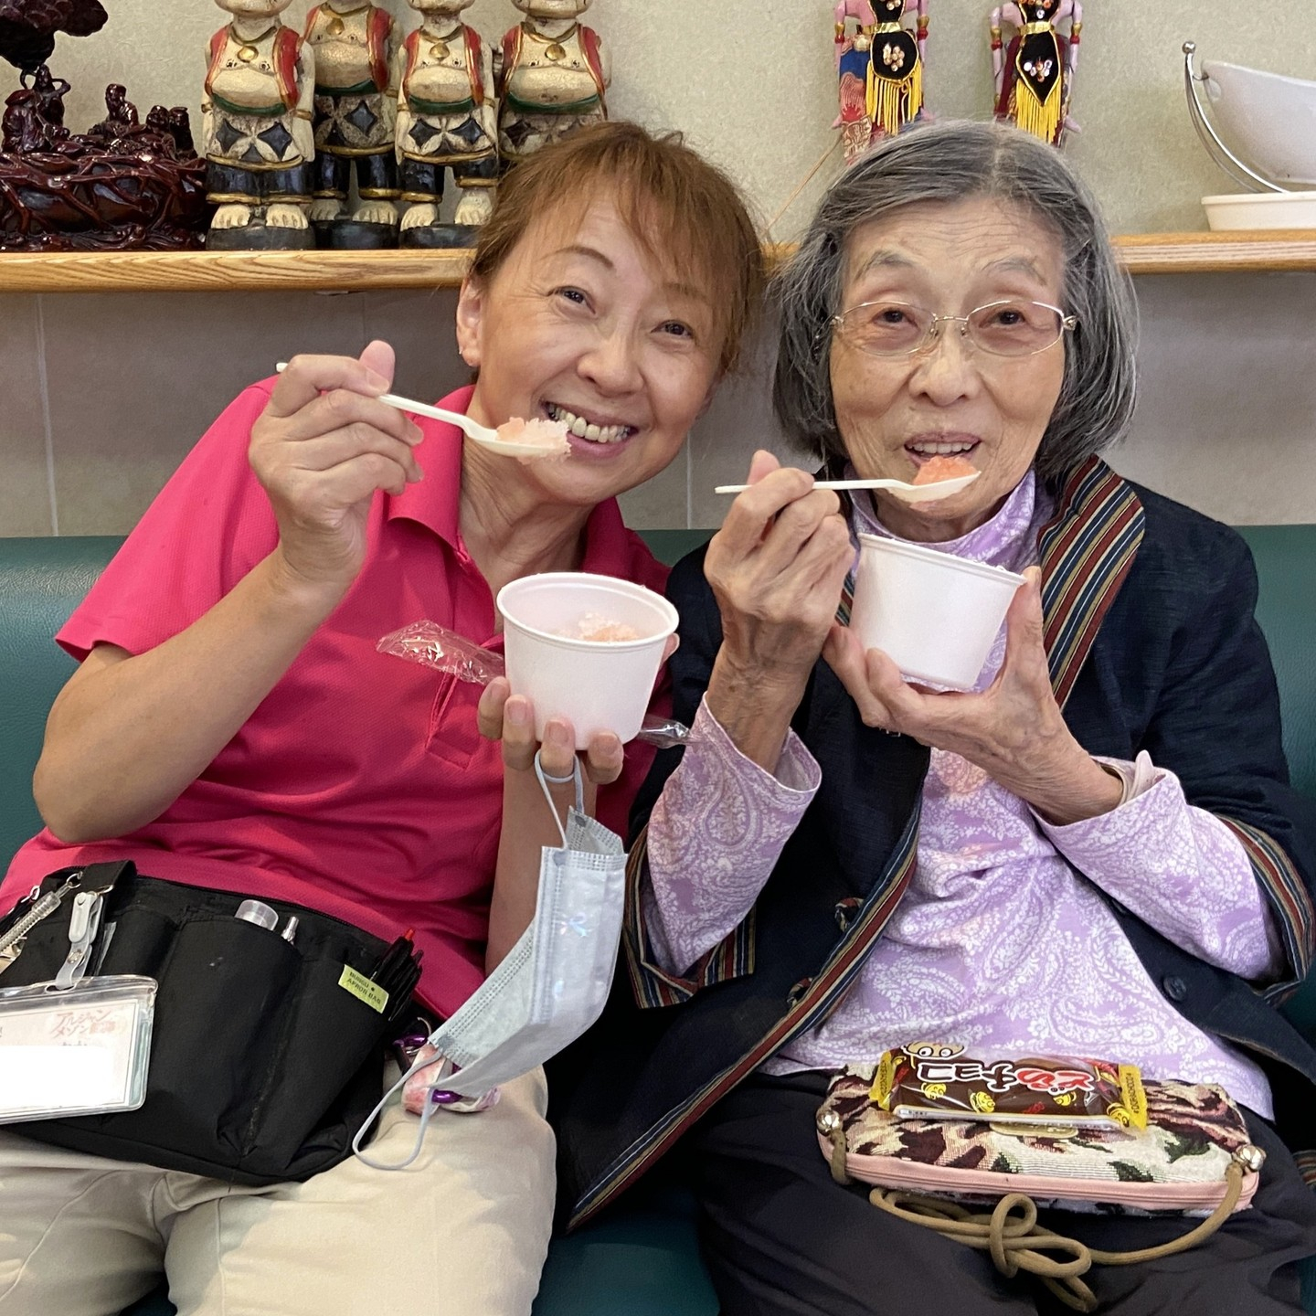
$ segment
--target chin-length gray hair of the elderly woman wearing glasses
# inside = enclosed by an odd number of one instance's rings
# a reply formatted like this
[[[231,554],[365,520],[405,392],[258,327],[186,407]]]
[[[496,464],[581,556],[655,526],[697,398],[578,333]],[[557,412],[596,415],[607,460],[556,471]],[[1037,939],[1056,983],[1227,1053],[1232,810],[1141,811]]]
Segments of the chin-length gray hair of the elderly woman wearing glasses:
[[[1065,257],[1062,308],[1078,318],[1065,378],[1033,465],[1062,478],[1123,436],[1133,415],[1137,308],[1091,192],[1054,147],[1004,124],[948,122],[888,138],[822,197],[799,251],[772,283],[780,317],[772,407],[795,442],[845,455],[832,405],[832,317],[854,229],[905,205],[986,196],[1053,229]]]

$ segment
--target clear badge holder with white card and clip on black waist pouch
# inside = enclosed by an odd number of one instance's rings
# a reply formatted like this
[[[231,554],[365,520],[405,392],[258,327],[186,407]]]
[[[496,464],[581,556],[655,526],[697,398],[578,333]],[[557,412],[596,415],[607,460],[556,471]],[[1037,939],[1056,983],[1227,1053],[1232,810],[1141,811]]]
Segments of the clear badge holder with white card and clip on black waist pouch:
[[[0,934],[3,974],[32,929],[72,901],[68,953],[55,978],[0,988],[0,1124],[134,1111],[146,1100],[155,979],[87,978],[105,896],[122,866],[95,867],[111,870],[108,880],[84,883],[87,869],[45,895],[34,890],[32,908]]]

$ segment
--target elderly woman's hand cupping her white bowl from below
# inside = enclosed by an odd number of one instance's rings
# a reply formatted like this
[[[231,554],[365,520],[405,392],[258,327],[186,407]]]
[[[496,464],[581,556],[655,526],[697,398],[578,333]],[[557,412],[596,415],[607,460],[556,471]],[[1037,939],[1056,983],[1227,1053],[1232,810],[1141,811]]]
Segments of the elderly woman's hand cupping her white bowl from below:
[[[1042,645],[1041,571],[1030,567],[1005,615],[1005,658],[980,694],[908,684],[880,649],[832,628],[824,657],[869,726],[912,736],[980,767],[1051,822],[1115,808],[1120,782],[1078,744],[1051,691]]]

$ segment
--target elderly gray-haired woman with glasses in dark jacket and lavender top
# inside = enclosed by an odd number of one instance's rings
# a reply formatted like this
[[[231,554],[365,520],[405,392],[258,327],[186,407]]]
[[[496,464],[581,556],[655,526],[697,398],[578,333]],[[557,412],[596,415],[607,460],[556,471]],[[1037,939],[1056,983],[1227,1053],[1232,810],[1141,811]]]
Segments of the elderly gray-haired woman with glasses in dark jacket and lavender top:
[[[1134,313],[1091,197],[1016,129],[925,128],[834,184],[776,291],[776,412],[822,474],[979,474],[842,501],[758,453],[674,572],[694,734],[637,805],[626,971],[550,1076],[571,1217],[684,1136],[724,1316],[1062,1309],[837,1186],[815,1115],[905,1044],[1101,1057],[1223,1086],[1269,1158],[1191,1253],[1086,1277],[1100,1309],[1299,1312],[1316,1204],[1271,1121],[1316,1146],[1316,1051],[1274,1007],[1311,963],[1316,855],[1245,545],[1098,455]],[[1025,575],[973,691],[844,625],[861,532]],[[1187,1229],[1044,1221],[1107,1250]]]

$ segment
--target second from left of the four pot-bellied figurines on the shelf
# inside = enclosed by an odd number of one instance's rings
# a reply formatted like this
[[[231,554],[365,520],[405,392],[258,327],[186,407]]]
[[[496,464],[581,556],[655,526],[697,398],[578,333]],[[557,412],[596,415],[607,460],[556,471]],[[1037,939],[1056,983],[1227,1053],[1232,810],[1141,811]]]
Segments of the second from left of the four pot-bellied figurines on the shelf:
[[[397,113],[397,29],[392,16],[361,0],[326,0],[307,14],[315,53],[315,200],[321,246],[392,246],[397,233],[393,121]],[[353,166],[359,204],[347,215]],[[343,222],[346,220],[346,222]]]

